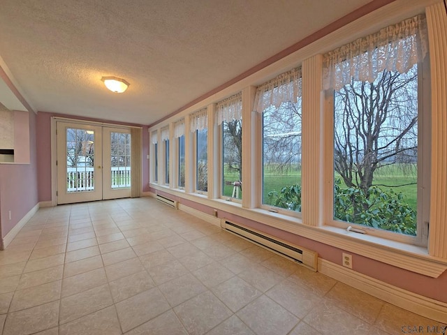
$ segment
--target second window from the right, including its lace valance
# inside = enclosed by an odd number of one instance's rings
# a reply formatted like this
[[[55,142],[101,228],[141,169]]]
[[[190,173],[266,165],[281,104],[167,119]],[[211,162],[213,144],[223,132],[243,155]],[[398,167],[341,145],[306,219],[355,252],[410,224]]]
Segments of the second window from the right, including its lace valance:
[[[301,68],[256,90],[255,108],[263,113],[262,203],[301,211]]]

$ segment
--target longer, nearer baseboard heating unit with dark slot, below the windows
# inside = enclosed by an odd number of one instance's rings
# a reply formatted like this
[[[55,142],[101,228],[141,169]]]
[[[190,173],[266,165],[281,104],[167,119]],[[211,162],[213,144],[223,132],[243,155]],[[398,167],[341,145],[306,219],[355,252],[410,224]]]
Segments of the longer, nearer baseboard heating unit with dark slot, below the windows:
[[[306,248],[290,244],[289,242],[281,241],[280,239],[277,239],[277,237],[272,237],[264,232],[259,232],[243,225],[230,222],[224,218],[221,220],[221,228],[247,239],[254,244],[258,244],[258,246],[267,248],[289,260],[298,262],[313,271],[318,269],[318,253],[315,251],[310,251]]]

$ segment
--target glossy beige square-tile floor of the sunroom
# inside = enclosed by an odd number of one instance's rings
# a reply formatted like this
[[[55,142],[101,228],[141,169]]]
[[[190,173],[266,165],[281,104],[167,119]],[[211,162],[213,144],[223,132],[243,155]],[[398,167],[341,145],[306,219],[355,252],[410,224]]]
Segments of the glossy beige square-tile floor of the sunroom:
[[[404,334],[437,322],[151,198],[40,209],[0,251],[0,333]]]

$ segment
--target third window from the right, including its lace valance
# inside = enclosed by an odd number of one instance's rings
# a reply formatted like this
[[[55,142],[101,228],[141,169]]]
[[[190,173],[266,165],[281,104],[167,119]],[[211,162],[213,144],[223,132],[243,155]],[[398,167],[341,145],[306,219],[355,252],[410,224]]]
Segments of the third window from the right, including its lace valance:
[[[217,124],[221,125],[221,195],[242,199],[242,94],[217,103]]]

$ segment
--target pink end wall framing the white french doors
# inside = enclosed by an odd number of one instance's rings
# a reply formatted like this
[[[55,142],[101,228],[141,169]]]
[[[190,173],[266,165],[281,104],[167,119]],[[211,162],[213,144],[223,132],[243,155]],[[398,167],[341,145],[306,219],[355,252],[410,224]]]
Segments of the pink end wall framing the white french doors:
[[[108,124],[121,124],[126,126],[142,127],[142,191],[149,191],[149,133],[147,126],[140,124],[125,124],[115,121],[92,118],[77,118],[71,115],[38,112],[37,114],[37,168],[38,168],[38,200],[51,201],[51,117],[68,117],[70,119],[82,119],[86,121],[105,122]]]

